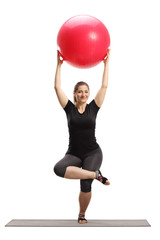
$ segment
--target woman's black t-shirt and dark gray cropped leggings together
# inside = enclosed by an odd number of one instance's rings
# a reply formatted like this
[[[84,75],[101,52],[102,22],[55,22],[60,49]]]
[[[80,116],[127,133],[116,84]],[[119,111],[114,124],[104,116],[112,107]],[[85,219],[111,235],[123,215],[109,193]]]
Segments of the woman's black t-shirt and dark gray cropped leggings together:
[[[68,166],[82,167],[96,171],[102,163],[102,151],[96,142],[96,117],[100,108],[92,100],[83,113],[68,100],[64,111],[67,115],[69,129],[69,147],[65,157],[54,166],[54,172],[64,177]],[[81,179],[81,191],[90,192],[93,179]]]

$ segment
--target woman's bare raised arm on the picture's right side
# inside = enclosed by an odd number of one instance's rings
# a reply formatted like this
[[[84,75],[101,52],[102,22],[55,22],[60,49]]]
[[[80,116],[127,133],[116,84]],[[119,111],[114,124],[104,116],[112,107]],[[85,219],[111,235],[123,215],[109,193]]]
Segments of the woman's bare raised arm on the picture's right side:
[[[106,91],[108,88],[108,63],[109,63],[109,56],[110,56],[110,50],[107,52],[107,56],[104,59],[104,72],[103,72],[103,77],[102,77],[102,85],[101,88],[99,89],[98,93],[95,96],[95,103],[97,104],[98,107],[102,106],[102,103],[104,101]]]

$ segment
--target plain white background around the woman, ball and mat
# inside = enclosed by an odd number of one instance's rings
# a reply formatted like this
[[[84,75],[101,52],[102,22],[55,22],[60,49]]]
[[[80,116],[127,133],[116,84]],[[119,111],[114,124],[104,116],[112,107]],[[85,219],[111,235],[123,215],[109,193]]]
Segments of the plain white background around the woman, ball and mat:
[[[93,183],[88,219],[147,219],[151,228],[5,228],[11,219],[77,219],[79,180],[52,169],[68,147],[65,112],[54,92],[56,37],[77,14],[100,19],[111,36],[109,87],[98,113],[106,187]],[[158,239],[160,143],[159,1],[0,2],[1,239]],[[103,62],[62,65],[62,87],[101,85]],[[159,236],[159,237],[158,237]]]

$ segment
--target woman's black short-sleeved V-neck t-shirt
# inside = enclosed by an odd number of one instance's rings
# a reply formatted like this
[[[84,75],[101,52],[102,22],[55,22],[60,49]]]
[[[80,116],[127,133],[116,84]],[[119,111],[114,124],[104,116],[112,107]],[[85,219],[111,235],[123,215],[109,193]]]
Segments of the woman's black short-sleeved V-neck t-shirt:
[[[83,158],[85,154],[99,147],[95,138],[96,116],[100,108],[92,100],[83,113],[68,100],[64,110],[69,129],[69,147],[66,154]]]

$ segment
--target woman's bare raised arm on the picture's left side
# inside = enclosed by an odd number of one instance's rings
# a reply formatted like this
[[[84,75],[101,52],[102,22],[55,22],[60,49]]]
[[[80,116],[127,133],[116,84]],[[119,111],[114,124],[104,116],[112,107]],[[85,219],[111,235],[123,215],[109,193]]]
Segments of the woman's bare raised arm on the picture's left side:
[[[68,102],[68,98],[61,88],[61,65],[62,65],[62,63],[63,63],[63,60],[61,60],[60,53],[57,51],[57,68],[56,68],[56,74],[55,74],[54,88],[55,88],[59,103],[61,104],[62,108],[64,108]]]

